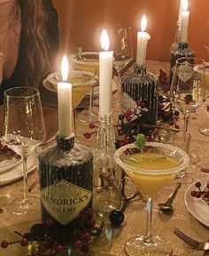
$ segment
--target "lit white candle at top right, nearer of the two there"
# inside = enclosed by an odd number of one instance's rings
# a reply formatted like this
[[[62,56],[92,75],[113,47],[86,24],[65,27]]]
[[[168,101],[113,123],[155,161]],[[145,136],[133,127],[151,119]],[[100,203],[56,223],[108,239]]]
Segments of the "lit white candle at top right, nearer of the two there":
[[[188,28],[189,28],[189,18],[190,12],[188,9],[188,0],[182,0],[182,27],[181,27],[181,42],[187,43],[188,39]]]

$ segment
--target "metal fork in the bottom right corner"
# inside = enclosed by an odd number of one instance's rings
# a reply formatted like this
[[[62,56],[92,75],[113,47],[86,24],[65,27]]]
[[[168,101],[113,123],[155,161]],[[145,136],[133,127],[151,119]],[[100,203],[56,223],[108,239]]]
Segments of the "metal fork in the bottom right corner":
[[[178,228],[174,228],[174,235],[178,236],[179,238],[182,239],[183,242],[188,244],[190,248],[192,249],[197,249],[197,250],[202,250],[202,251],[207,251],[209,250],[209,242],[198,242],[194,239],[192,239],[190,236],[185,235],[182,233],[181,230]]]

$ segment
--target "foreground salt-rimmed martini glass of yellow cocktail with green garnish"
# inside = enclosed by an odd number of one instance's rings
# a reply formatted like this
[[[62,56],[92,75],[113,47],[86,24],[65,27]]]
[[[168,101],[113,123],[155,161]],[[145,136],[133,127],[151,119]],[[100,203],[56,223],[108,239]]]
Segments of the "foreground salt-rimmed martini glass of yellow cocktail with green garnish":
[[[171,245],[151,235],[152,198],[188,166],[190,158],[181,148],[159,142],[146,142],[144,152],[132,143],[119,148],[114,155],[116,163],[135,183],[147,205],[145,235],[131,237],[124,248],[129,256],[171,255]]]

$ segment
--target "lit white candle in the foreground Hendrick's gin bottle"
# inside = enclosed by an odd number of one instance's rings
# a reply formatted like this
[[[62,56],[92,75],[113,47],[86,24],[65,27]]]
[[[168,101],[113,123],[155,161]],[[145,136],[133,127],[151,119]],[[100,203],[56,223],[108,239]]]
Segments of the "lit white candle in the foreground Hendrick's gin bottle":
[[[66,55],[61,64],[63,82],[58,83],[58,132],[62,137],[72,134],[72,84],[67,83],[68,62]]]

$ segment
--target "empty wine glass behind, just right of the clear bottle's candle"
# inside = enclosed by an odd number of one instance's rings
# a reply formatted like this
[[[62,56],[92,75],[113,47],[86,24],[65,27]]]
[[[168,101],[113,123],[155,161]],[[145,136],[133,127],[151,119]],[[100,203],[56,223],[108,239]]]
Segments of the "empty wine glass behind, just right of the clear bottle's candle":
[[[133,60],[132,31],[128,27],[112,26],[110,32],[110,48],[113,51],[113,68],[118,76],[118,98],[116,103],[121,105],[121,74],[124,68]]]

